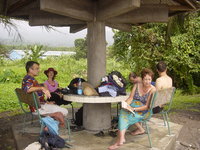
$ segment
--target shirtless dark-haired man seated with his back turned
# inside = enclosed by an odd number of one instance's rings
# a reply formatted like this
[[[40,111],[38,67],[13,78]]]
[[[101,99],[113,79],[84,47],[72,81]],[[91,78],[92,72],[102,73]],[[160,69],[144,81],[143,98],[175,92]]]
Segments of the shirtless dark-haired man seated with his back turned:
[[[172,78],[167,75],[167,65],[160,61],[157,65],[157,72],[159,74],[159,78],[156,79],[156,90],[162,90],[172,87]],[[159,113],[163,110],[163,107],[155,107],[153,108],[153,113]]]

